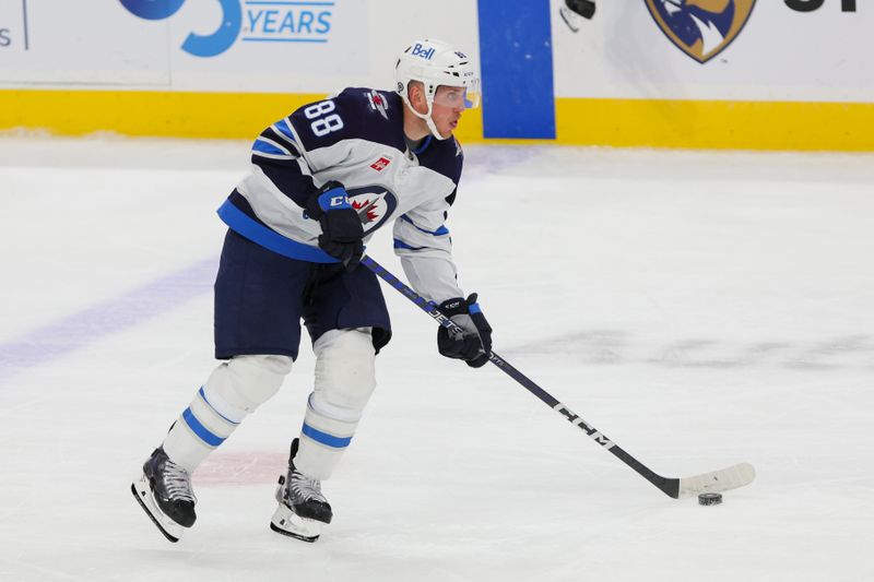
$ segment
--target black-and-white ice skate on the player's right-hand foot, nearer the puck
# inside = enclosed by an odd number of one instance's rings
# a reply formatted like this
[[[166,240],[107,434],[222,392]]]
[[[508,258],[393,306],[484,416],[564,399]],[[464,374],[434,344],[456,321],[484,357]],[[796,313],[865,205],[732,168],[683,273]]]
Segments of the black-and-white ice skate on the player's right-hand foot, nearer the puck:
[[[270,520],[270,528],[304,542],[315,542],[323,523],[331,523],[331,506],[321,495],[321,483],[310,479],[294,466],[297,439],[292,441],[288,473],[280,475],[276,487],[279,507]]]

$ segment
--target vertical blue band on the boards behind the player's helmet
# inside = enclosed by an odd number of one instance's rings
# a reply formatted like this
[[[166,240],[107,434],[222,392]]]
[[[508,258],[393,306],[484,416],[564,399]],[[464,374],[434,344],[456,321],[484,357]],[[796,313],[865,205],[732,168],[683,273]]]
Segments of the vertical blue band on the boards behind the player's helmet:
[[[479,0],[483,135],[555,139],[550,0]]]

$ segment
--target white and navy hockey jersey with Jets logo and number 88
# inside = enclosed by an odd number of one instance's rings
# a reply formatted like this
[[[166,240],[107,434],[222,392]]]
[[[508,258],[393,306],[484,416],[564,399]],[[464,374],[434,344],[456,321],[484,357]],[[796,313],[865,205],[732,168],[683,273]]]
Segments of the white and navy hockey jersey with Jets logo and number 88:
[[[252,171],[218,215],[281,254],[336,262],[318,248],[321,227],[305,212],[309,198],[336,180],[358,212],[365,244],[393,221],[394,251],[420,295],[437,304],[463,296],[445,222],[464,155],[454,138],[430,135],[410,151],[402,107],[393,92],[352,87],[276,121],[255,141]]]

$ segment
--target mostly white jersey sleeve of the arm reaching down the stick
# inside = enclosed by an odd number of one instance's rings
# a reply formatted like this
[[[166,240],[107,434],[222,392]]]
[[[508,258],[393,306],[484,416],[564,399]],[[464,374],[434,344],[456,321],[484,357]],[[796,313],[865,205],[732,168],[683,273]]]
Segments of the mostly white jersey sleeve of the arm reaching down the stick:
[[[452,195],[418,206],[394,222],[394,253],[410,285],[423,297],[440,304],[462,297],[452,260],[452,239],[445,221]]]

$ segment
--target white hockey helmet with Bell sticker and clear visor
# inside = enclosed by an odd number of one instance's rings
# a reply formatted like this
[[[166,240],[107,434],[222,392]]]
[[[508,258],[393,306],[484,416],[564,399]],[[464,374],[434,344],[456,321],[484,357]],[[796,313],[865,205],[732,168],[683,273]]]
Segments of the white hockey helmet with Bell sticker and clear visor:
[[[398,95],[416,117],[425,120],[432,134],[438,140],[446,139],[437,131],[432,119],[434,98],[438,87],[463,87],[464,107],[480,106],[480,75],[476,74],[471,59],[442,40],[426,38],[410,45],[398,56],[398,62],[394,64],[394,80]],[[426,114],[416,111],[410,104],[411,81],[421,82],[425,88],[425,97],[428,102]]]

